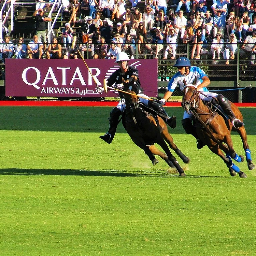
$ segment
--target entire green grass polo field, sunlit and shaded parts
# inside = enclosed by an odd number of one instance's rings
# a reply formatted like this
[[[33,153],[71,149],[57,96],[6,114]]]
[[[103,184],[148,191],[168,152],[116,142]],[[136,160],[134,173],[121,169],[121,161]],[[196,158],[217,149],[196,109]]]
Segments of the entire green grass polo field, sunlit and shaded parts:
[[[121,125],[111,145],[99,139],[110,110],[1,107],[1,256],[255,256],[256,171],[238,163],[248,178],[231,177],[184,133],[183,110],[166,108],[191,159],[179,161],[186,177],[168,173]],[[256,109],[241,111],[256,163]]]

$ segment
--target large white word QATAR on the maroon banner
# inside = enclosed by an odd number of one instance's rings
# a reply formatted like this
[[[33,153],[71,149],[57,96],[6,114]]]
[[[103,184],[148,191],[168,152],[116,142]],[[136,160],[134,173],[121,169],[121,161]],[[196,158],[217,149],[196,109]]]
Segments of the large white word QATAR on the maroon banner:
[[[57,71],[59,70],[59,71]],[[100,75],[100,69],[99,68],[89,68],[91,73],[88,71],[88,80],[85,82],[84,77],[79,69],[77,67],[75,71],[71,71],[70,67],[57,67],[57,69],[54,71],[52,67],[48,68],[48,71],[46,72],[45,75],[40,72],[38,68],[35,67],[27,67],[23,70],[22,72],[22,81],[27,84],[27,85],[32,85],[35,87],[37,90],[41,89],[41,85],[44,86],[46,83],[49,81],[53,83],[56,86],[73,86],[73,83],[75,81],[79,81],[81,85],[92,85],[92,80],[94,80],[98,85],[102,85],[99,79],[97,78]],[[59,73],[60,74],[57,74]],[[71,73],[72,72],[72,73]],[[67,79],[68,77],[72,78]],[[43,78],[43,82],[40,83],[41,79]],[[94,79],[93,79],[94,78]],[[40,84],[39,84],[40,83]],[[42,88],[42,90],[44,90]]]

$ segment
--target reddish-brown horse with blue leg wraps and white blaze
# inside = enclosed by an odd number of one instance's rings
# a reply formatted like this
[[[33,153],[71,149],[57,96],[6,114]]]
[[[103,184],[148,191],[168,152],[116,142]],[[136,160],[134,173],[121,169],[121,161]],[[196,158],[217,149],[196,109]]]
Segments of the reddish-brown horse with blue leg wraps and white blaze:
[[[209,106],[203,103],[199,95],[200,92],[197,91],[195,85],[185,85],[183,94],[183,109],[185,111],[191,111],[195,116],[196,133],[199,139],[202,140],[213,153],[223,159],[229,168],[231,176],[235,176],[236,173],[238,173],[241,178],[246,178],[246,174],[240,171],[240,169],[232,162],[232,159],[237,162],[243,162],[244,158],[242,156],[238,156],[233,148],[233,142],[230,134],[232,130],[231,122],[228,121],[227,123],[227,120],[224,120],[220,114],[214,112]],[[232,105],[235,106],[234,104]],[[236,117],[242,121],[243,117],[238,108],[237,110],[240,113],[236,111],[236,108],[232,108],[232,110],[234,111]],[[240,127],[239,129],[235,128],[235,130],[241,136],[244,148],[248,147],[246,141],[246,131],[244,127]],[[222,151],[224,151],[226,156]],[[254,165],[251,162],[251,159],[249,159],[248,155],[246,155],[246,160],[248,168],[253,169]]]

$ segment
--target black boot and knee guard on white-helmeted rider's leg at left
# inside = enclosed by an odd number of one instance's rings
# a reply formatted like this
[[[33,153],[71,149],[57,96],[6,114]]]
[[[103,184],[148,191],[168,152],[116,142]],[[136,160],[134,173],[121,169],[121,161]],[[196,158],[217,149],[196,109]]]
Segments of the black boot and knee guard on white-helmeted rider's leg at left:
[[[100,136],[100,138],[106,141],[108,144],[110,144],[114,139],[114,136],[116,134],[116,128],[119,122],[119,116],[121,114],[121,110],[116,107],[113,108],[110,112],[108,132]]]

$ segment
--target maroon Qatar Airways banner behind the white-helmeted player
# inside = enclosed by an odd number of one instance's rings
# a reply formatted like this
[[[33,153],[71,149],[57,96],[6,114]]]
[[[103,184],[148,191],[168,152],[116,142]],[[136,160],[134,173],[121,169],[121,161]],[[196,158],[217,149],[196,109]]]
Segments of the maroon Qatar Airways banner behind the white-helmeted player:
[[[98,93],[96,83],[119,68],[114,60],[6,59],[6,96],[37,97],[118,97],[112,89]],[[139,70],[144,93],[157,96],[157,60],[132,59],[129,65]],[[96,83],[94,82],[96,81]]]

